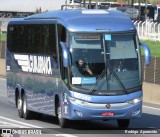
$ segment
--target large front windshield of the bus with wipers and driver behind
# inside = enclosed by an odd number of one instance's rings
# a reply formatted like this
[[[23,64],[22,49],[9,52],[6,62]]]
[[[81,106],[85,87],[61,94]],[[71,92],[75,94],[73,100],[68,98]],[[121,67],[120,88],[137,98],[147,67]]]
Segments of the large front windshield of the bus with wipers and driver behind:
[[[134,33],[70,33],[70,84],[89,93],[127,94],[141,86]]]

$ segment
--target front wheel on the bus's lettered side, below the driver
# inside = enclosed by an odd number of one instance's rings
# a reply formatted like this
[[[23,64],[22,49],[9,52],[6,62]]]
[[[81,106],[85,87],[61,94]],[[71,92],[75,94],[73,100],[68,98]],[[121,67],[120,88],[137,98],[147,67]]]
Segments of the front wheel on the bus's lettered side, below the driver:
[[[58,117],[58,122],[61,128],[66,128],[68,127],[68,120],[62,117],[62,111],[61,111],[61,106],[60,103],[57,105],[57,117]]]

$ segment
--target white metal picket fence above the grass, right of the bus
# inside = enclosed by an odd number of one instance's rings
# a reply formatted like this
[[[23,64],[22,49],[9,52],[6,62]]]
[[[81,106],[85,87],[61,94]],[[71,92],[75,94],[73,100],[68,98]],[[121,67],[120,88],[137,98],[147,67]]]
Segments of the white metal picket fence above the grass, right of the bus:
[[[133,23],[137,28],[140,39],[160,41],[160,23],[153,22],[153,20],[133,21]]]

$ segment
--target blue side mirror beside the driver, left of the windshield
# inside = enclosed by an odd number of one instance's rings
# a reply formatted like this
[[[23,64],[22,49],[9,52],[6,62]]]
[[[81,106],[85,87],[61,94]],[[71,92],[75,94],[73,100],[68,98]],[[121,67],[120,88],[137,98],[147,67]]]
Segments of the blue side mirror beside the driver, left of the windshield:
[[[69,66],[69,51],[66,46],[65,42],[60,42],[61,48],[62,48],[62,58],[63,58],[63,66],[68,67]]]

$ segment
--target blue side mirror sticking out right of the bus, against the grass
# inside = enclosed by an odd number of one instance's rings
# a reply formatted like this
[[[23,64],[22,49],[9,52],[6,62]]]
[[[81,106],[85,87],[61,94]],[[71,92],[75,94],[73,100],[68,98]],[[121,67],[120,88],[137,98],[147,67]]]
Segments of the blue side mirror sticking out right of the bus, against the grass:
[[[144,49],[145,65],[148,66],[151,64],[151,51],[144,43],[140,43],[140,46]]]

